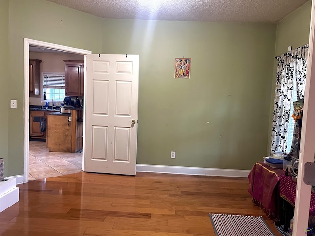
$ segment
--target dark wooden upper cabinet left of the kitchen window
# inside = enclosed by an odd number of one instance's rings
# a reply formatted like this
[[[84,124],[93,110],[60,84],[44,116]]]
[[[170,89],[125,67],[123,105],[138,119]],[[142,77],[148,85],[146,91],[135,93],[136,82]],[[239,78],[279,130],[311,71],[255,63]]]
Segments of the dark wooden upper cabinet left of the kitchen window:
[[[40,95],[40,63],[37,59],[29,61],[29,91],[33,95]]]

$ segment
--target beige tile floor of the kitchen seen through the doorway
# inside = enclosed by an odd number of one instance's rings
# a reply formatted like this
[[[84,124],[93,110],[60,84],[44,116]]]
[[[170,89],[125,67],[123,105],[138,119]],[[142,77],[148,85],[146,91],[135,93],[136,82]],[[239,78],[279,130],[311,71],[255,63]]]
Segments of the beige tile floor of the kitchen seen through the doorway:
[[[82,153],[49,152],[46,142],[29,142],[29,181],[80,172]]]

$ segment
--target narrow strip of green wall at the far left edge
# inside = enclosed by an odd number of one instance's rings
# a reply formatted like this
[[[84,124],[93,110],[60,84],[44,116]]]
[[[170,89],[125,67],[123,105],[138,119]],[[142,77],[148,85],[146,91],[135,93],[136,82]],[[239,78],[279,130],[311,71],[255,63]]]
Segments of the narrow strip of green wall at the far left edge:
[[[0,0],[0,158],[4,159],[4,174],[8,176],[8,113],[9,113],[9,0]]]

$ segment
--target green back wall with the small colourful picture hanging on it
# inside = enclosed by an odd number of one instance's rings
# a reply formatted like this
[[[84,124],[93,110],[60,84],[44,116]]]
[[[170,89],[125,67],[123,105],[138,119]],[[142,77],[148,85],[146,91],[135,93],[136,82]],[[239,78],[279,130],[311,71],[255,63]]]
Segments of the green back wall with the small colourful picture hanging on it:
[[[102,53],[140,55],[137,163],[262,160],[275,35],[275,24],[104,19]],[[175,57],[192,59],[190,79],[174,79]]]

